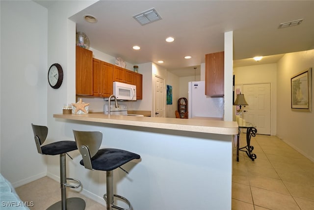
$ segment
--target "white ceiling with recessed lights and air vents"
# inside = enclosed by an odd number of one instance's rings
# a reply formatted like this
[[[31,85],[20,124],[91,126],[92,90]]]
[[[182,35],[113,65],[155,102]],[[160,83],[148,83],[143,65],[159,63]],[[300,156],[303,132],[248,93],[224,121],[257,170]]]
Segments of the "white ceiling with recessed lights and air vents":
[[[46,7],[51,3],[36,2]],[[144,26],[135,21],[134,15],[151,8],[161,20]],[[93,49],[132,64],[163,60],[158,65],[192,76],[206,54],[224,51],[227,31],[234,31],[235,67],[273,63],[285,53],[314,49],[313,10],[313,0],[101,0],[70,19],[77,31],[87,34]],[[86,14],[98,22],[86,22]],[[300,25],[278,29],[299,19]],[[166,42],[168,36],[175,41]],[[133,45],[141,49],[134,51]],[[184,59],[187,55],[192,58]],[[257,62],[251,59],[255,56],[264,58]]]

